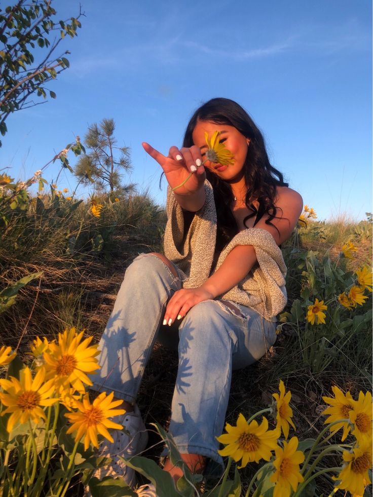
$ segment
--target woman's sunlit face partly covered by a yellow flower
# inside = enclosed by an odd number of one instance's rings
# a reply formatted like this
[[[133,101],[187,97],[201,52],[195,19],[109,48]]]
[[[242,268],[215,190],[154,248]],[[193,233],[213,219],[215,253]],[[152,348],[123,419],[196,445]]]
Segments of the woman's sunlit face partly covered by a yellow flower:
[[[246,160],[247,148],[250,140],[242,135],[233,126],[228,126],[227,124],[216,124],[211,121],[197,121],[192,136],[194,144],[201,149],[203,158],[204,153],[207,150],[205,132],[207,132],[209,138],[211,138],[214,131],[220,131],[220,142],[224,143],[225,146],[232,152],[234,157],[233,164],[229,166],[220,166],[219,164],[206,161],[205,167],[219,176],[222,180],[228,182],[239,181],[244,175],[243,165]]]

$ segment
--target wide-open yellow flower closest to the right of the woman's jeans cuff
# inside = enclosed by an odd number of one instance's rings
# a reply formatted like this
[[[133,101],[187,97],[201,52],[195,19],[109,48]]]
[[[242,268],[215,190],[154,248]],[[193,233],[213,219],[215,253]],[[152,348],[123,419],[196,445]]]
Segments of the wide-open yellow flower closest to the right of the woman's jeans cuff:
[[[226,445],[225,448],[218,450],[220,455],[231,456],[236,463],[242,459],[241,466],[244,468],[247,463],[260,459],[269,461],[271,451],[277,446],[277,439],[281,432],[279,429],[268,430],[268,421],[263,417],[262,424],[257,424],[255,419],[250,424],[242,414],[238,416],[237,426],[226,424],[228,433],[217,437],[217,441]]]

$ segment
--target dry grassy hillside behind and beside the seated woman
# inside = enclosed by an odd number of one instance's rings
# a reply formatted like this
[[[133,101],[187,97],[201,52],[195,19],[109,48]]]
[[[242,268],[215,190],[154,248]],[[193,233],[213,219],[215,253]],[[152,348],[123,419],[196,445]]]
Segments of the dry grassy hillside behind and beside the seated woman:
[[[3,184],[0,208],[0,346],[17,350],[26,362],[38,336],[52,340],[74,326],[98,341],[126,267],[138,253],[162,251],[165,212],[147,193],[77,201],[53,186],[50,194],[28,196],[27,189],[7,194]],[[347,306],[339,298],[359,285],[362,268],[370,271],[371,242],[368,221],[318,222],[306,213],[283,247],[288,305],[277,342],[258,363],[234,372],[228,422],[263,409],[282,379],[292,393],[296,435],[311,438],[323,427],[322,396],[331,386],[354,397],[371,389],[371,292],[365,288],[360,302]],[[27,275],[34,279],[19,285],[16,295],[16,283]],[[327,305],[325,324],[307,320],[315,299]],[[176,370],[176,354],[157,345],[139,397],[147,423],[167,426]],[[157,441],[152,433],[151,442]],[[159,452],[157,445],[148,455]],[[252,464],[241,471],[243,487],[256,469]],[[317,485],[315,495],[332,489],[326,476]],[[81,491],[78,486],[71,494]]]

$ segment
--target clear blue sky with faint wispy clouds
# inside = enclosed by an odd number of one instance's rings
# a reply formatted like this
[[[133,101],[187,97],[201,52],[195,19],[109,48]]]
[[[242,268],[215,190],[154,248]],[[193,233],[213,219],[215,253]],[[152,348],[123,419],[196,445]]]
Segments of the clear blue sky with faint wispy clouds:
[[[160,166],[141,142],[166,153],[195,108],[222,96],[250,113],[272,164],[319,219],[372,210],[369,0],[81,3],[78,37],[60,44],[71,55],[50,84],[57,99],[7,121],[0,158],[13,176],[27,179],[89,124],[114,118],[131,147],[125,180],[163,204]],[[72,0],[53,5],[58,19],[79,11]],[[63,174],[58,186],[75,184]]]

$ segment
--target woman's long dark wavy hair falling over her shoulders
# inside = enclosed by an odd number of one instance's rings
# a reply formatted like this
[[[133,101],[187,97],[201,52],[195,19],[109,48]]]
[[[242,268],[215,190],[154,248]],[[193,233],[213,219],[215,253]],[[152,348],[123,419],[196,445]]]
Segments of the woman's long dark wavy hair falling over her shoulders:
[[[234,126],[242,135],[250,139],[247,156],[244,163],[244,178],[247,188],[245,204],[251,214],[244,218],[244,224],[258,209],[253,201],[258,201],[259,210],[269,217],[267,224],[277,216],[274,204],[276,186],[288,186],[280,171],[271,166],[268,159],[266,145],[262,133],[249,116],[249,114],[229,98],[212,98],[199,107],[193,114],[185,130],[183,146],[191,147],[193,143],[193,130],[198,121],[210,121],[216,124]],[[231,210],[234,200],[231,186],[221,180],[216,174],[206,168],[206,177],[212,184],[217,214],[216,250],[221,251],[239,232],[239,227]],[[281,209],[280,209],[281,210]]]

